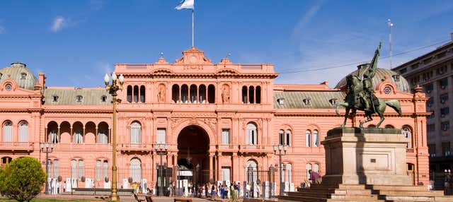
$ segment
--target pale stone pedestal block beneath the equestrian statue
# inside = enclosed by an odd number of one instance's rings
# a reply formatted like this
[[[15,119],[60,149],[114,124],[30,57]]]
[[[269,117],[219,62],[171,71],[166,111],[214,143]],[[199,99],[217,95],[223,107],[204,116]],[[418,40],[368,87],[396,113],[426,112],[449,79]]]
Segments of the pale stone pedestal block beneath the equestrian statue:
[[[408,140],[400,129],[335,128],[321,143],[326,150],[323,184],[411,184]]]

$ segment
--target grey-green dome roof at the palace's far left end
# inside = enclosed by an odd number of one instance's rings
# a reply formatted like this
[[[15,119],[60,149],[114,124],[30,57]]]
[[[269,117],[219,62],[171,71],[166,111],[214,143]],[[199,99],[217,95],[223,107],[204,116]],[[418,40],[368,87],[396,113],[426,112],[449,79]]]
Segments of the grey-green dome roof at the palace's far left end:
[[[19,61],[11,63],[11,66],[0,69],[0,83],[8,78],[16,81],[19,88],[28,90],[35,90],[35,84],[38,83],[38,79],[33,75],[30,69]]]

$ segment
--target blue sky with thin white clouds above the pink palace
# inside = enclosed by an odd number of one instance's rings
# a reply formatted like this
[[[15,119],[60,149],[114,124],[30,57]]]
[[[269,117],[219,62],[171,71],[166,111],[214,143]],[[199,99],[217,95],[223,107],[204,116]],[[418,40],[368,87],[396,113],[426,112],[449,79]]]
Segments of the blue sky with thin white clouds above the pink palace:
[[[2,0],[0,66],[22,61],[47,85],[95,87],[117,63],[154,63],[160,52],[174,62],[191,46],[191,13],[178,3]],[[235,63],[274,64],[276,83],[333,87],[379,40],[389,55],[387,18],[393,53],[410,51],[393,57],[396,66],[451,40],[453,1],[195,0],[195,47],[214,63],[231,53]]]

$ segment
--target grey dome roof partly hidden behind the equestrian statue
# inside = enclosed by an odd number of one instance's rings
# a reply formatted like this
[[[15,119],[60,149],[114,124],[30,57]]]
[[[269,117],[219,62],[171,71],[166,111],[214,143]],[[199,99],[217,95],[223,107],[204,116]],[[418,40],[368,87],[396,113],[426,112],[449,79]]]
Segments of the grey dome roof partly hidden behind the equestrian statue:
[[[351,75],[351,74],[357,75],[358,71],[359,70],[357,69],[356,71],[352,71],[352,73],[349,73],[348,75]],[[406,81],[406,78],[403,78],[403,76],[400,76],[395,71],[391,71],[389,69],[380,69],[380,68],[376,69],[376,76],[374,76],[374,78],[372,79],[373,88],[376,88],[378,83],[381,83],[382,81],[384,81],[386,79],[385,78],[386,76],[389,76],[389,78],[388,78],[389,81],[391,81],[391,83],[394,83],[394,85],[396,85],[396,88],[398,91],[406,92],[406,93],[411,92],[411,89],[409,88],[409,83],[408,83],[408,81]],[[346,85],[346,77],[347,76],[342,78],[340,80],[340,82],[338,82],[338,84],[335,86],[335,88],[344,88]]]

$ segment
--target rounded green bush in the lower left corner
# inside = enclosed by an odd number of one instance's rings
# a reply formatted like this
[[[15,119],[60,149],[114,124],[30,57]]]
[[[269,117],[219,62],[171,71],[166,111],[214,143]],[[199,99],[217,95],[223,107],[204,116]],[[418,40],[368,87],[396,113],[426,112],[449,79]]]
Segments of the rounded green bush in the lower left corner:
[[[16,158],[0,170],[0,192],[16,201],[30,201],[40,193],[45,177],[37,159]]]

